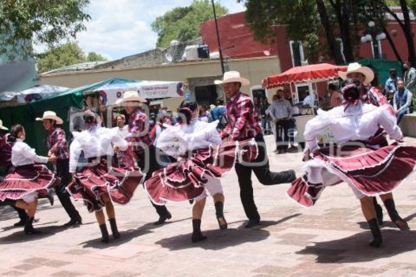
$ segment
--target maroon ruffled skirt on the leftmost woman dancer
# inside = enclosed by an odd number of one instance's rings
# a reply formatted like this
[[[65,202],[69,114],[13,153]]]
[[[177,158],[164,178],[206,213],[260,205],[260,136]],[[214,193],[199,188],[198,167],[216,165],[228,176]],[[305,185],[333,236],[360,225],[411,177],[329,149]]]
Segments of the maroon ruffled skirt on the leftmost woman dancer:
[[[43,164],[28,164],[16,167],[0,182],[0,201],[18,200],[37,192],[44,197],[48,189],[58,185],[60,179]]]

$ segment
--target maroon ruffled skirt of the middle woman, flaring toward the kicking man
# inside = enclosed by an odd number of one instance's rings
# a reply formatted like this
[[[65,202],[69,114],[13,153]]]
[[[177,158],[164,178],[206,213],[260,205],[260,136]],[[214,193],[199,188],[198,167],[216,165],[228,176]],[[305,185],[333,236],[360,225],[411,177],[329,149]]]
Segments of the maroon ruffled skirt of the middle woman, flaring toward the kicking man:
[[[220,178],[235,162],[250,162],[256,157],[254,139],[194,150],[180,157],[178,162],[155,171],[145,182],[145,188],[156,205],[191,200],[204,193],[207,176]]]

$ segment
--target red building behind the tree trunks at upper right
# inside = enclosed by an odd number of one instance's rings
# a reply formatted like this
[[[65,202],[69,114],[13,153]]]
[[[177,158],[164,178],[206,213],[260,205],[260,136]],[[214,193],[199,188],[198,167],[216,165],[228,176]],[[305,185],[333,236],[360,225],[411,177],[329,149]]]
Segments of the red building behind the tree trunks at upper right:
[[[399,11],[397,14],[399,18],[402,17]],[[413,29],[416,32],[415,17],[411,15],[411,19]],[[254,41],[254,36],[246,24],[244,12],[218,18],[218,29],[224,56],[230,58],[261,57],[265,56],[266,51],[268,52],[267,54],[278,56],[282,71],[290,69],[295,65],[300,65],[301,60],[307,60],[303,46],[299,42],[293,42],[287,38],[286,27],[284,25],[278,25],[275,28],[277,33],[276,43],[273,45],[264,45]],[[396,36],[393,36],[393,41],[402,60],[406,61],[408,56],[407,45],[399,24],[391,21],[388,24],[388,30],[390,34],[396,33]],[[210,52],[218,51],[213,20],[201,24],[201,33],[204,43],[209,46]],[[384,59],[396,60],[393,49],[387,40],[380,41],[379,47],[380,54]],[[372,49],[371,43],[360,43],[358,57],[373,58]],[[327,60],[325,62],[332,63]]]

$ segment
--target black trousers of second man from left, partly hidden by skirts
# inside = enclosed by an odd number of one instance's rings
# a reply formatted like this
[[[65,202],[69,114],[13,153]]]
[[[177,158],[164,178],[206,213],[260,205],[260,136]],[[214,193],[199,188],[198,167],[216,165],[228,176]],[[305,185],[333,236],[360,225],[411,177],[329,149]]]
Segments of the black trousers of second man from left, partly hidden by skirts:
[[[147,181],[152,177],[153,172],[163,168],[157,159],[158,155],[162,155],[162,151],[157,149],[154,145],[150,145],[148,151],[140,150],[136,152],[138,166],[142,173],[146,173],[144,181]],[[166,206],[155,205],[152,201],[150,201],[150,203],[155,207],[159,216],[165,216],[168,213]]]

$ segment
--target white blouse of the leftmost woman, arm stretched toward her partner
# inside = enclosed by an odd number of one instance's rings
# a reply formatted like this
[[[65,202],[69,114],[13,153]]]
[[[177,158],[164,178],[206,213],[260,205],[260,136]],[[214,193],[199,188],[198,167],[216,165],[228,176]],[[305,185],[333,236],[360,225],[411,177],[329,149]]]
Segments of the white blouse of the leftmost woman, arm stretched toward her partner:
[[[30,148],[22,139],[18,138],[12,147],[12,164],[14,166],[37,163],[46,163],[48,157],[36,155],[35,149]]]

